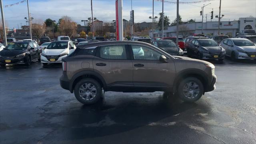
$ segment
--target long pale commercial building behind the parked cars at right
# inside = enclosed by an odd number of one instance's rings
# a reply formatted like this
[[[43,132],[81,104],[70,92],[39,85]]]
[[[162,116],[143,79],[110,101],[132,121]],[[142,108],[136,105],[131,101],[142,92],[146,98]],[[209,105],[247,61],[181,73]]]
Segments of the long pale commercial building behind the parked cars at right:
[[[204,22],[203,33],[209,36],[217,35],[218,26],[218,22]],[[186,23],[179,25],[179,27],[179,36],[184,37],[191,34],[202,33],[202,22]],[[184,32],[184,29],[181,30],[181,28],[184,28],[186,32]],[[239,18],[238,20],[220,22],[220,34],[222,33],[234,37],[236,36],[236,33],[242,30],[256,30],[256,18]],[[176,26],[169,26],[167,29],[164,29],[164,37],[169,36],[176,36]],[[150,37],[152,37],[152,32],[150,33]],[[156,30],[154,32],[154,37],[162,37],[162,31]]]

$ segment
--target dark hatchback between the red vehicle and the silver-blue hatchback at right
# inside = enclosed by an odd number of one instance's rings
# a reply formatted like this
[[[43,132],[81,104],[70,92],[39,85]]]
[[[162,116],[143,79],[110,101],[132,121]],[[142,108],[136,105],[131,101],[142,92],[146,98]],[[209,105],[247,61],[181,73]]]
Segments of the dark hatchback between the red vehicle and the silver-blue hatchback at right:
[[[188,57],[196,56],[197,59],[218,59],[223,61],[226,51],[212,39],[195,39],[188,46]]]

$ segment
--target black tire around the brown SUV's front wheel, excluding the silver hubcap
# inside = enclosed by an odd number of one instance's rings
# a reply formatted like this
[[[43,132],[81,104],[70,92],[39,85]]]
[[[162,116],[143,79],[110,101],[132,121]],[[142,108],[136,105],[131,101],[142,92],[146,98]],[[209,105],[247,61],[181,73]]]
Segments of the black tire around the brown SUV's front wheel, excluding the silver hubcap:
[[[188,96],[185,96],[184,92],[183,92],[183,88],[186,84],[188,84],[189,82],[192,82],[192,84],[197,84],[198,86],[196,87],[196,90],[198,89],[199,92],[196,96],[191,97],[190,98]],[[202,84],[202,82],[200,80],[198,80],[198,78],[194,78],[194,77],[188,77],[183,79],[179,86],[178,86],[178,96],[180,97],[180,99],[182,99],[184,102],[195,102],[197,100],[199,100],[199,98],[201,98],[201,96],[204,93],[204,86]],[[194,93],[193,93],[194,95]]]

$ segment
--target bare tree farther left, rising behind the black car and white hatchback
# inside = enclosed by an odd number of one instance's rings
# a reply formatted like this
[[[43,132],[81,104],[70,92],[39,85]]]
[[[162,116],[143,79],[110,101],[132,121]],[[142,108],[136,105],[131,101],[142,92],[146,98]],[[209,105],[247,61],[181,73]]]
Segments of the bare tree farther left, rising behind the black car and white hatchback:
[[[34,20],[32,25],[32,35],[36,36],[36,40],[38,41],[39,38],[44,34],[46,25],[42,20]]]

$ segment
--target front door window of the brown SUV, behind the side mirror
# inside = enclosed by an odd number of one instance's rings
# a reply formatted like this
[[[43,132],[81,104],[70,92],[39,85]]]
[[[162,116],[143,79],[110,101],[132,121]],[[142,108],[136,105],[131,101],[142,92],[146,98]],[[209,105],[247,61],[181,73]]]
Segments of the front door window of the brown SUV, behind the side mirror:
[[[160,56],[162,55],[156,50],[146,46],[135,44],[132,44],[131,46],[134,60],[159,60]]]

